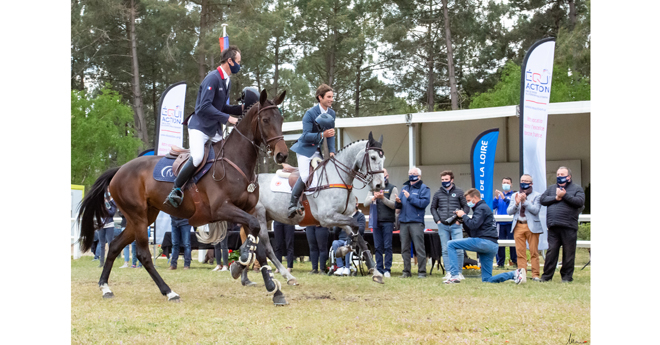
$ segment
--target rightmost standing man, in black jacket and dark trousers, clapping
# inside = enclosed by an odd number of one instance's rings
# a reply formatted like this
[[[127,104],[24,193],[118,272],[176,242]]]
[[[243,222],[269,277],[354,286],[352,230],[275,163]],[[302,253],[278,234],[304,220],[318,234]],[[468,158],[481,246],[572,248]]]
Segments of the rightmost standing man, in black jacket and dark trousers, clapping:
[[[541,195],[541,205],[548,207],[548,252],[541,281],[550,281],[557,268],[559,247],[563,247],[561,281],[573,281],[575,247],[577,246],[578,216],[584,206],[584,190],[572,183],[571,169],[557,169],[557,183]]]

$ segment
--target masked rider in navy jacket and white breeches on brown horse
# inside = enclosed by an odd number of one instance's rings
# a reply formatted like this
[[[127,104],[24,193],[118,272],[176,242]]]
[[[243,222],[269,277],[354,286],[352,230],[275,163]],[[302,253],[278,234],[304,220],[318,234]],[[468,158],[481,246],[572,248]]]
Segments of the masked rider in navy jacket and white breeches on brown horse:
[[[236,46],[229,46],[222,52],[220,66],[207,74],[199,86],[195,113],[187,119],[190,159],[181,167],[166,200],[174,207],[179,207],[183,202],[181,187],[202,164],[206,142],[209,139],[214,143],[222,140],[222,125],[227,122],[236,125],[238,122],[237,118],[230,115],[241,115],[243,106],[229,105],[228,100],[231,88],[229,77],[240,69],[241,51]]]

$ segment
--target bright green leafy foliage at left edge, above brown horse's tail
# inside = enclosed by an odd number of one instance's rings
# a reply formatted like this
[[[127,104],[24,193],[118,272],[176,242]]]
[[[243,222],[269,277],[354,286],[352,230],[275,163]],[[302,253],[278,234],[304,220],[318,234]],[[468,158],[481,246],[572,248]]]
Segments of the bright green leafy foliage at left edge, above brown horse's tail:
[[[93,97],[71,91],[71,183],[89,188],[105,170],[135,158],[133,110],[109,84]]]

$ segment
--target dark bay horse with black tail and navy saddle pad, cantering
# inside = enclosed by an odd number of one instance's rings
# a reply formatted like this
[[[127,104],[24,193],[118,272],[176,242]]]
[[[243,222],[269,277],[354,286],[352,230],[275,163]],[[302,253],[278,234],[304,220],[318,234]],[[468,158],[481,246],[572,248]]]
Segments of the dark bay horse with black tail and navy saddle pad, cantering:
[[[146,229],[156,220],[158,213],[163,211],[178,218],[189,219],[193,226],[223,220],[244,225],[249,235],[240,248],[240,264],[247,266],[256,257],[262,267],[266,289],[274,294],[275,305],[288,304],[279,281],[272,279],[263,250],[257,251],[260,226],[257,219],[250,215],[259,200],[259,185],[254,170],[258,150],[263,150],[261,145],[268,148],[269,154],[274,154],[273,158],[278,164],[285,162],[288,156],[282,135],[284,118],[277,108],[284,101],[285,95],[286,91],[275,100],[268,100],[266,90],[261,91],[259,102],[247,110],[234,130],[225,139],[213,144],[216,156],[209,157],[213,162],[212,168],[196,185],[187,183],[183,203],[178,208],[164,203],[173,183],[156,181],[152,176],[156,163],[162,157],[135,158],[119,168],[107,170],[96,180],[81,202],[78,213],[81,250],[85,252],[91,247],[94,223],[102,224],[101,220],[107,214],[103,199],[106,191],[110,192],[126,217],[126,229],[110,243],[108,258],[99,280],[104,298],[114,296],[108,287],[108,278],[115,258],[126,245],[136,240],[137,256],[161,294],[167,296],[168,301],[180,300],[179,295],[170,289],[156,271],[148,248]]]

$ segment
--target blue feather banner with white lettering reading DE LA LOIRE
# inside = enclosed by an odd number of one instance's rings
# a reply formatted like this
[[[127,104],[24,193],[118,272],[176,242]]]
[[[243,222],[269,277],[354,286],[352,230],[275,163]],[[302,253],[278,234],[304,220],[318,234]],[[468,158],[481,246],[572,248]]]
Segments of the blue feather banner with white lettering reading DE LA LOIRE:
[[[479,134],[472,143],[470,155],[472,187],[481,193],[481,199],[489,205],[493,200],[493,170],[495,169],[495,152],[499,135],[498,128]]]

